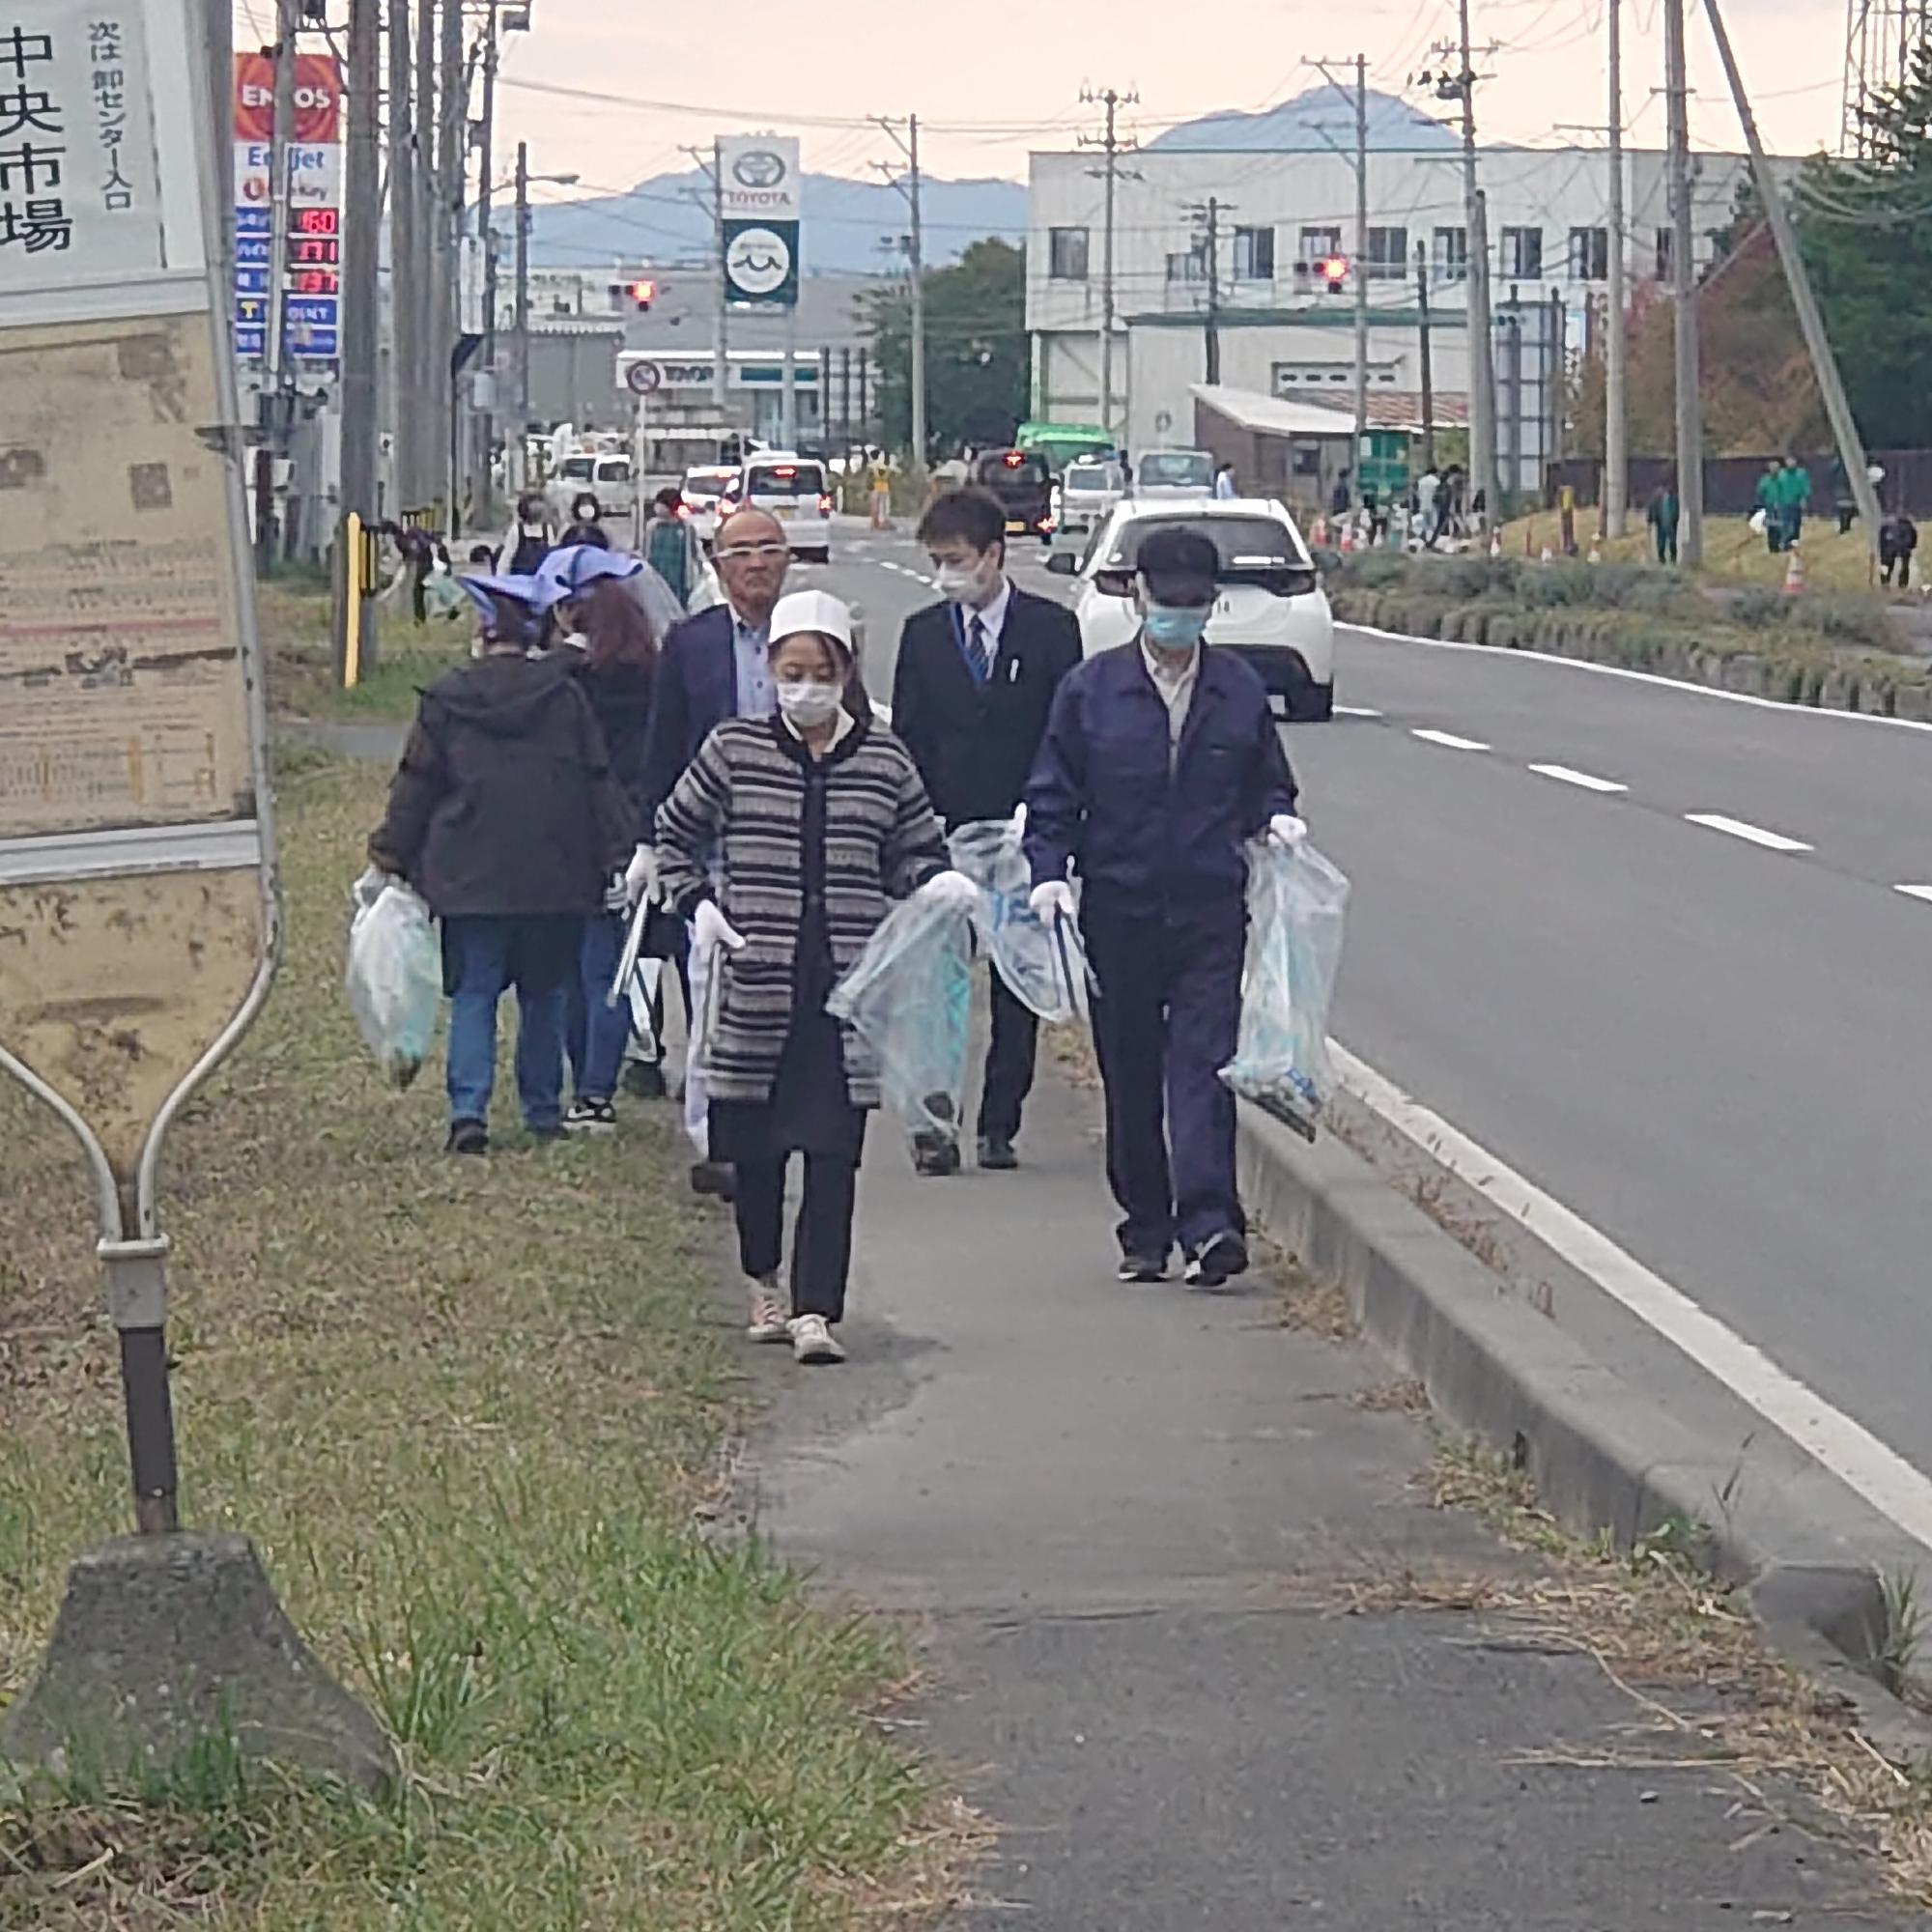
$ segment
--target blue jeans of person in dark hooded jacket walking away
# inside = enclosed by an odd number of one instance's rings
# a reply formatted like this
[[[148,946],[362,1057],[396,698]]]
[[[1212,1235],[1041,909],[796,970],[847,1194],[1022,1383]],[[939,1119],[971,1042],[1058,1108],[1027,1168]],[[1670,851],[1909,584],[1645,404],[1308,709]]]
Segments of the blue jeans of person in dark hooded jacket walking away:
[[[551,1132],[564,1117],[564,1020],[580,918],[468,914],[442,922],[450,995],[452,1121],[487,1121],[497,1086],[497,1003],[516,987],[516,1097],[524,1124]]]

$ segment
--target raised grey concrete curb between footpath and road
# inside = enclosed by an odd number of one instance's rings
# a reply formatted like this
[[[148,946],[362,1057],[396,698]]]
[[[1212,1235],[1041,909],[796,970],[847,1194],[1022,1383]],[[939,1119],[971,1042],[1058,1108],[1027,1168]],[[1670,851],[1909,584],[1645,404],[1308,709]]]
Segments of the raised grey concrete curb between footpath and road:
[[[1739,1455],[1704,1439],[1611,1372],[1333,1136],[1308,1146],[1240,1105],[1250,1213],[1318,1281],[1347,1293],[1362,1331],[1453,1430],[1509,1455],[1551,1515],[1619,1546],[1694,1522],[1710,1569],[1748,1592],[1777,1648],[1843,1698],[1897,1754],[1932,1752],[1932,1725],[1872,1675],[1884,1577],[1922,1551],[1862,1520],[1818,1468],[1770,1509],[1733,1507]]]

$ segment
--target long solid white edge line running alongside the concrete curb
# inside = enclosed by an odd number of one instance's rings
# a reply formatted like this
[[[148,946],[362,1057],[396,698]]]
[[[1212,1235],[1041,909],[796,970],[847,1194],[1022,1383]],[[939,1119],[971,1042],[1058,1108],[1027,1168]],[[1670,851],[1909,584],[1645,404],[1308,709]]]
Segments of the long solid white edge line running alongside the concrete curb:
[[[1706,1314],[1681,1289],[1619,1248],[1559,1200],[1488,1148],[1451,1126],[1441,1115],[1410,1099],[1399,1086],[1335,1045],[1343,1086],[1372,1107],[1397,1132],[1412,1140],[1451,1173],[1478,1188],[1484,1200],[1520,1221],[1573,1267],[1582,1269],[1605,1294],[1681,1349],[1698,1368],[1716,1376],[1766,1422],[1799,1443],[1833,1476],[1889,1517],[1907,1536],[1932,1549],[1932,1480],[1862,1424],[1833,1408],[1795,1376],[1779,1368],[1756,1343],[1745,1341],[1716,1316]]]

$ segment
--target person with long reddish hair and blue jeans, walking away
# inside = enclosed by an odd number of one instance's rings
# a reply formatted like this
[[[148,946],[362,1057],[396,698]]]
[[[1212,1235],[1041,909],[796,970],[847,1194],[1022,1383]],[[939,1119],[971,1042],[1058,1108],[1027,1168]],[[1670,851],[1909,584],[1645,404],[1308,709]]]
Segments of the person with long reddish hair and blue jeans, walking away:
[[[643,742],[651,723],[657,632],[624,580],[616,576],[591,580],[574,603],[562,607],[558,630],[562,663],[591,701],[611,755],[611,773],[624,786],[641,825]],[[620,999],[612,1007],[607,995],[624,954],[628,908],[630,898],[620,883],[605,910],[583,922],[566,1032],[574,1080],[574,1099],[564,1113],[566,1134],[607,1134],[616,1126],[616,1088],[624,1074],[632,1024],[630,1001]],[[643,1090],[657,1095],[665,1092],[663,1010],[659,993],[651,1012],[657,1061],[641,1066],[647,1076]]]

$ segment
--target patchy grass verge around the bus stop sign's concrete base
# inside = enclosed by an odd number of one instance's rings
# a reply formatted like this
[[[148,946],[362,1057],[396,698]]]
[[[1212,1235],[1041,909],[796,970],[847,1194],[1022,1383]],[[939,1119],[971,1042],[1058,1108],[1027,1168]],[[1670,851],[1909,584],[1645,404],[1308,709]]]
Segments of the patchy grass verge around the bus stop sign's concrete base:
[[[958,1820],[871,1719],[896,1640],[694,1524],[736,1383],[667,1117],[454,1163],[435,1082],[367,1066],[338,976],[379,798],[313,755],[284,779],[288,964],[164,1200],[185,1517],[257,1540],[406,1789],[0,1808],[0,1928],[837,1932],[943,1901]],[[4,1702],[128,1503],[81,1177],[12,1088],[0,1140]]]

